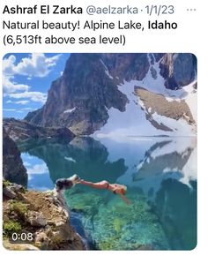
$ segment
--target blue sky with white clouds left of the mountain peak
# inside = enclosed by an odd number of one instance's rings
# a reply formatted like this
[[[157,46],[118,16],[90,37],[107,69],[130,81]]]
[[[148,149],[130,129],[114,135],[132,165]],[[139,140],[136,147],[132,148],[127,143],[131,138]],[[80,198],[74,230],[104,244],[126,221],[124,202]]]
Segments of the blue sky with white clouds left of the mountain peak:
[[[23,119],[47,100],[70,53],[10,53],[3,59],[3,117]]]

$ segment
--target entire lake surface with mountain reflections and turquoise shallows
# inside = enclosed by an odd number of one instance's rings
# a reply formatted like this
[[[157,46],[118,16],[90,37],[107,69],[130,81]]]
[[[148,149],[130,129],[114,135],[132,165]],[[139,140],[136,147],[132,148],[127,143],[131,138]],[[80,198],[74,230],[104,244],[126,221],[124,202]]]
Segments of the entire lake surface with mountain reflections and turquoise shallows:
[[[71,224],[100,250],[191,250],[197,244],[197,141],[194,138],[51,139],[19,144],[28,188],[59,177],[126,184],[127,206],[82,184],[65,192]]]

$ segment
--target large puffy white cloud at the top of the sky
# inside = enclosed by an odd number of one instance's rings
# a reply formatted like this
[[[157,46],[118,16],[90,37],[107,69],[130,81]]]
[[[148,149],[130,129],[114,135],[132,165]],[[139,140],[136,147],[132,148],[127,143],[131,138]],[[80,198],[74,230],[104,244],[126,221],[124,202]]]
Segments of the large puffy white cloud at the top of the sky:
[[[11,55],[3,60],[3,72],[5,75],[24,75],[27,77],[43,78],[51,72],[61,54],[47,57],[43,53],[32,53],[16,64],[16,57]],[[27,78],[28,79],[28,78]]]

